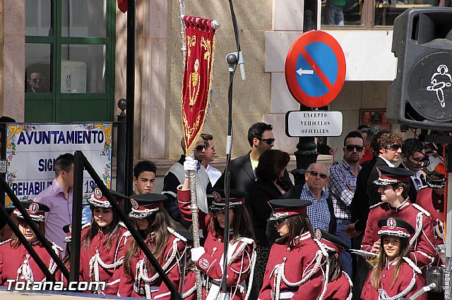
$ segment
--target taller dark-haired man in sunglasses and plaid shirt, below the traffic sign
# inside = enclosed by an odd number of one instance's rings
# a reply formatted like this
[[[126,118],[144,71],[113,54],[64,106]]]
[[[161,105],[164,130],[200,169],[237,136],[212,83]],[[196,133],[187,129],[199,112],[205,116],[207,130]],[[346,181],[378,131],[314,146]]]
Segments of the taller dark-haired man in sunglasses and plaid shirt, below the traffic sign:
[[[344,159],[336,163],[330,170],[328,189],[333,200],[334,215],[337,220],[336,235],[349,248],[352,246],[350,237],[345,236],[345,227],[351,223],[350,204],[356,189],[356,180],[361,166],[359,161],[364,155],[364,139],[361,132],[352,131],[344,139]],[[352,256],[350,252],[340,254],[343,270],[352,277]]]

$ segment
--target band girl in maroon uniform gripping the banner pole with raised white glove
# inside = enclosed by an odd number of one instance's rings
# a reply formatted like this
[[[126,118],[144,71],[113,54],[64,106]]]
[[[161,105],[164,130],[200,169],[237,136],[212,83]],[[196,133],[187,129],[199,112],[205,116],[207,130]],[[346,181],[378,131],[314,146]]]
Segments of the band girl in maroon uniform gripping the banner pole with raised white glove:
[[[190,162],[189,162],[190,163]],[[196,165],[184,164],[186,170],[196,170]],[[191,220],[190,185],[186,178],[184,185],[177,188],[179,210],[186,220]],[[205,275],[203,299],[218,299],[223,274],[224,233],[225,233],[225,192],[213,190],[210,206],[212,216],[198,212],[199,228],[206,237],[204,246],[191,249],[191,260]],[[253,282],[256,246],[254,244],[251,218],[244,207],[246,193],[231,189],[229,200],[230,242],[227,253],[227,290],[230,299],[248,299],[251,289],[246,289],[245,280],[249,277],[249,287]]]

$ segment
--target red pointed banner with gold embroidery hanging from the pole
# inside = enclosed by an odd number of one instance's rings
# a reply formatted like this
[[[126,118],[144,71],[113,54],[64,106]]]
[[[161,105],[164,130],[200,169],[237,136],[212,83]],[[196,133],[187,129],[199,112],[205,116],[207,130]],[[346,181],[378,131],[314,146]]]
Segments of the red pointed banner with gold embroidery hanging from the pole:
[[[202,133],[210,105],[216,40],[211,22],[191,15],[184,16],[186,56],[181,106],[186,155],[190,154]]]

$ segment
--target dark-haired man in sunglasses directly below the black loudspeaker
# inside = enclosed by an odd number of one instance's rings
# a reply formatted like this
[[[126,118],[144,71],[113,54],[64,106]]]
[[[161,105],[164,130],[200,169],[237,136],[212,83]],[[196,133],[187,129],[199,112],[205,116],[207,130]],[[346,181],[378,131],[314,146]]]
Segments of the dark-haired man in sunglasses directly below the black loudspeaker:
[[[424,144],[419,139],[405,139],[402,145],[402,163],[398,167],[414,173],[410,178],[410,190],[408,191],[408,198],[411,203],[416,203],[417,191],[427,185],[424,173],[421,170],[427,161]]]

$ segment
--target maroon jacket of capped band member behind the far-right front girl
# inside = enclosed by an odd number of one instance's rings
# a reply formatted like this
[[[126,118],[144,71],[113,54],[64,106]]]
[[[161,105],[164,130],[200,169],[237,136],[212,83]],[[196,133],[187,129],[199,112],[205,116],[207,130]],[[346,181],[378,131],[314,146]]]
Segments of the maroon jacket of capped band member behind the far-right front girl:
[[[436,252],[434,249],[432,218],[430,218],[430,214],[427,211],[417,204],[411,204],[408,199],[395,209],[385,202],[371,206],[361,250],[371,251],[374,242],[380,239],[378,222],[388,217],[397,217],[405,220],[415,228],[417,239],[412,241],[414,235],[410,237],[412,261],[420,268],[432,264]]]

